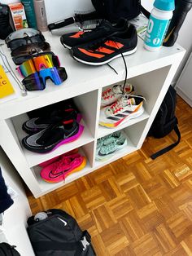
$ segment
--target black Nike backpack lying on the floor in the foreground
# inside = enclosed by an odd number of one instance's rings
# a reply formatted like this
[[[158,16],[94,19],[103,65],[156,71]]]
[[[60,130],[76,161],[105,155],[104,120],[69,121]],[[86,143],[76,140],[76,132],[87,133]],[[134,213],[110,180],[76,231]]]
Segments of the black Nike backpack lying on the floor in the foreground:
[[[48,217],[28,218],[28,236],[37,256],[95,256],[91,237],[76,220],[59,209],[45,212]]]

